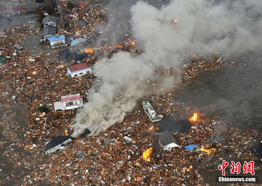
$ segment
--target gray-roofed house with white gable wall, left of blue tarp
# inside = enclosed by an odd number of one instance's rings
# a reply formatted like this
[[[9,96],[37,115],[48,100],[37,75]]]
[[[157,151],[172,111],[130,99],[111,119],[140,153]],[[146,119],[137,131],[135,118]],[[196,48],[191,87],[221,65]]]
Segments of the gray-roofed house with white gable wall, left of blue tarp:
[[[160,146],[162,147],[163,150],[169,150],[171,151],[175,147],[180,147],[179,142],[177,141],[176,137],[174,134],[169,132],[168,130],[159,133],[159,142]]]

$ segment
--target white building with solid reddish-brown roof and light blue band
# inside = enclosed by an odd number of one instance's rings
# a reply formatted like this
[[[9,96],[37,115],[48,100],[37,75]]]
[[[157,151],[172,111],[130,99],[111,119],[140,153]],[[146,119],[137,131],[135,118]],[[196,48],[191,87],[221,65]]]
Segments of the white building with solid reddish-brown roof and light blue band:
[[[91,72],[91,67],[87,62],[79,63],[77,65],[71,65],[67,67],[68,74],[73,77],[83,76]]]

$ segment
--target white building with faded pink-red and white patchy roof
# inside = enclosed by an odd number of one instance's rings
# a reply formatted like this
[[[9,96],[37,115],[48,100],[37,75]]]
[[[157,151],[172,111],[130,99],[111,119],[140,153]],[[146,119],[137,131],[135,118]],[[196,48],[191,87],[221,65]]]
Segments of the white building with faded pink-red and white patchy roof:
[[[79,108],[84,105],[83,98],[80,98],[80,94],[61,96],[61,101],[54,103],[55,110],[68,110],[73,108]]]

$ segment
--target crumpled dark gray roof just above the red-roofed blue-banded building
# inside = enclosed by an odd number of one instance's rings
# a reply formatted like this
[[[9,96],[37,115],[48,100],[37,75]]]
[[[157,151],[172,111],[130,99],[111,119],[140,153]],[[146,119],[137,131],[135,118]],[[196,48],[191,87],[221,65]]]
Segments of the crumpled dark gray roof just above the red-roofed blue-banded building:
[[[84,59],[86,56],[82,54],[79,50],[71,51],[68,48],[57,53],[57,55],[63,59],[64,61],[71,61],[71,60],[76,60],[76,61],[81,61]],[[89,130],[88,130],[89,131]],[[87,131],[87,132],[88,132]],[[89,131],[90,132],[90,131]]]

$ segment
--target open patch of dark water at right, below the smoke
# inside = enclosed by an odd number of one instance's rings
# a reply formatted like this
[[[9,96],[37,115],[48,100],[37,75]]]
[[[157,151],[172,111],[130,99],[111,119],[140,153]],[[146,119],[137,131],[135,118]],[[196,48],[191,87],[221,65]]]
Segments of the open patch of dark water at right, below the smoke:
[[[195,107],[229,127],[262,131],[262,70],[222,68],[204,71],[199,79],[175,92],[174,100]]]

